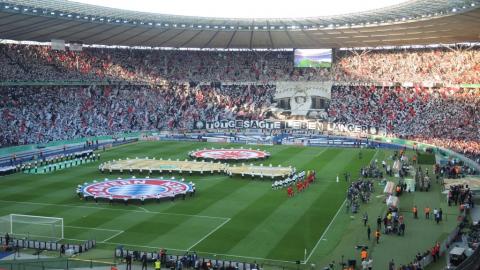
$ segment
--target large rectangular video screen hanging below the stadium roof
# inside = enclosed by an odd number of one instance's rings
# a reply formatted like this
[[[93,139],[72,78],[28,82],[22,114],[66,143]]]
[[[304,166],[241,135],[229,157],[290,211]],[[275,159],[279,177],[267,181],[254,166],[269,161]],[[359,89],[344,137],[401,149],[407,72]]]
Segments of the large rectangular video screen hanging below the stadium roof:
[[[332,49],[295,49],[295,67],[329,68]]]

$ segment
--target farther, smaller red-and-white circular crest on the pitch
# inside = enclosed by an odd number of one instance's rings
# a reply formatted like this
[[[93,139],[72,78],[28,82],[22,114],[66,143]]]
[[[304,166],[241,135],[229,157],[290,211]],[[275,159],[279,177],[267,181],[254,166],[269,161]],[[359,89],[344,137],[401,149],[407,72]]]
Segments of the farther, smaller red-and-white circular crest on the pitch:
[[[254,160],[267,158],[269,154],[252,149],[204,149],[193,151],[190,156],[207,160]]]

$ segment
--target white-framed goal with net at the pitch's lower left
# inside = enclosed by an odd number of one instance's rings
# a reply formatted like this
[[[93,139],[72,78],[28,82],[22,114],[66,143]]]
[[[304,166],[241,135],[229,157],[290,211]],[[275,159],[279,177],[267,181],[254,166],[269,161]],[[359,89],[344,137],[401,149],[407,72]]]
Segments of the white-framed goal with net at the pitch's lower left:
[[[0,217],[0,233],[41,241],[63,239],[63,218],[10,214]]]

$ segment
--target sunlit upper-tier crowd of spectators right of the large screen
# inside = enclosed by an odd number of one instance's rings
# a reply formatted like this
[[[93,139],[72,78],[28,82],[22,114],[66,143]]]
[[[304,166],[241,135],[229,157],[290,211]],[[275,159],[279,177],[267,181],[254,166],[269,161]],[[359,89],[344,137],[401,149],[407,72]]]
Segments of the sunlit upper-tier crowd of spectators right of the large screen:
[[[480,82],[478,47],[339,51],[336,79],[346,82]]]

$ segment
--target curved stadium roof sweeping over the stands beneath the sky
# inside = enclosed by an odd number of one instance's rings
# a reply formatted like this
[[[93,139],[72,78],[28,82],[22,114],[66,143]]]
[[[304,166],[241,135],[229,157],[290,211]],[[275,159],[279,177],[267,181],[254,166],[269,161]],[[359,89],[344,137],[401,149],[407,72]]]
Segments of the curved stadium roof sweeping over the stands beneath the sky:
[[[295,19],[164,15],[60,0],[0,0],[0,38],[188,48],[339,48],[480,40],[480,0],[411,0]]]

